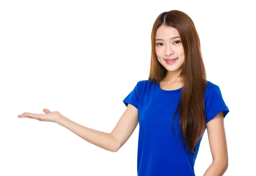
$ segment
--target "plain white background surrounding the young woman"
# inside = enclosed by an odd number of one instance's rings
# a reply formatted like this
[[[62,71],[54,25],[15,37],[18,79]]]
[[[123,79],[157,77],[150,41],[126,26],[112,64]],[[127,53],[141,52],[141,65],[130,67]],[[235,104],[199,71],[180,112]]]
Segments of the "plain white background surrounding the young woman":
[[[112,153],[58,124],[17,116],[48,108],[111,132],[125,111],[122,100],[148,79],[154,20],[175,9],[195,23],[207,79],[230,109],[224,176],[256,175],[256,13],[249,2],[1,0],[0,175],[137,175],[139,125]],[[211,162],[206,131],[196,176]]]

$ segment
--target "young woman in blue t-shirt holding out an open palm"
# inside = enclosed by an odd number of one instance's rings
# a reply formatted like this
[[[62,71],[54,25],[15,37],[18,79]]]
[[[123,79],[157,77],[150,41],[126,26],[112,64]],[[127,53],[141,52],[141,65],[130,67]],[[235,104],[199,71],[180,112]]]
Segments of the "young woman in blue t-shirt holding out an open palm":
[[[218,85],[207,81],[198,33],[182,11],[160,14],[151,33],[148,80],[137,82],[123,100],[127,106],[111,133],[79,125],[58,111],[23,113],[56,122],[87,142],[116,152],[140,124],[138,176],[195,176],[194,165],[207,128],[212,164],[204,176],[227,170],[224,130],[227,108]]]

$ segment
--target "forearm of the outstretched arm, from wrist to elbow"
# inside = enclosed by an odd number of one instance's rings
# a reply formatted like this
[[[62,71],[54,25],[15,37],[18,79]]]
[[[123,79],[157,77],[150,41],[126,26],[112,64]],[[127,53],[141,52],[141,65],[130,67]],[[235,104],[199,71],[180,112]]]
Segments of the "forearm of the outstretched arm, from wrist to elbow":
[[[97,131],[80,125],[65,116],[61,116],[58,124],[72,131],[82,139],[108,151],[116,152],[119,149],[118,142],[111,133]]]

